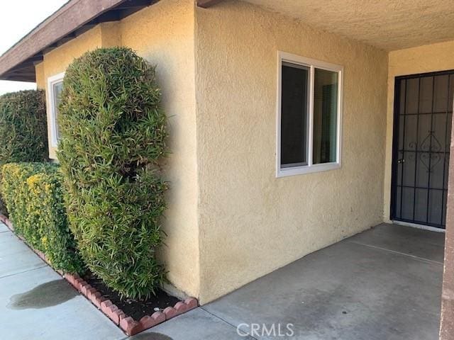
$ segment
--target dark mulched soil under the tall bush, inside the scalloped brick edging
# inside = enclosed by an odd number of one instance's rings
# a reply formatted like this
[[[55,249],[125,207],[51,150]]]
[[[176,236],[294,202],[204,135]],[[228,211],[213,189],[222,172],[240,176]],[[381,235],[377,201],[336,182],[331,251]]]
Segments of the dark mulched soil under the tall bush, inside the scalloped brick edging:
[[[111,300],[111,302],[119,309],[123,310],[125,314],[137,321],[140,320],[140,318],[145,317],[145,315],[151,315],[158,310],[162,312],[165,307],[174,307],[175,304],[180,301],[177,297],[168,295],[164,290],[160,289],[157,289],[155,292],[156,295],[150,297],[148,300],[138,301],[126,298],[122,300],[118,293],[104,285],[102,280],[96,278],[93,274],[87,274],[84,276],[84,280],[92,285],[92,287],[96,288],[103,297]]]

